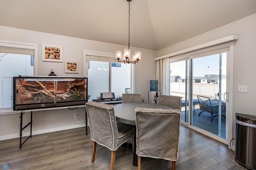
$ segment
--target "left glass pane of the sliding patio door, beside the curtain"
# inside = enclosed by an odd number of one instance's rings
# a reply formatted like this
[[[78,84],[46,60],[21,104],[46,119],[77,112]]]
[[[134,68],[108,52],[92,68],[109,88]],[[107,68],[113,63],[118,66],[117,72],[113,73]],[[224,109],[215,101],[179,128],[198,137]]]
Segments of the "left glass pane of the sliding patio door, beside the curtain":
[[[170,63],[170,95],[182,97],[181,121],[188,123],[188,60]]]

